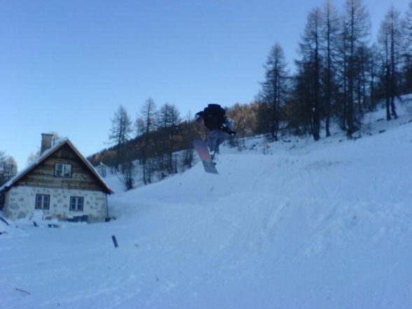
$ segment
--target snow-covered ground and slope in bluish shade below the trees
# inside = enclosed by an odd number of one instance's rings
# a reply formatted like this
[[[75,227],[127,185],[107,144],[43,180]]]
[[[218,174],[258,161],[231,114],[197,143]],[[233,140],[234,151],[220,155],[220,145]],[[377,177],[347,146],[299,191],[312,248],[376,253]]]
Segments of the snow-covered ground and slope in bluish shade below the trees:
[[[226,147],[219,175],[116,193],[109,223],[0,221],[0,308],[412,308],[407,107],[356,140]]]

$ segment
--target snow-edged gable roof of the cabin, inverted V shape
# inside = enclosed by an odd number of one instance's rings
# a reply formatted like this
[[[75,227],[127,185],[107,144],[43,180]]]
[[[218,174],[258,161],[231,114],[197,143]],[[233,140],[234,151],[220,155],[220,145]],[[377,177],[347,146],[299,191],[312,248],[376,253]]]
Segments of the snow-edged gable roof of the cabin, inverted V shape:
[[[34,160],[33,163],[31,163],[28,167],[26,167],[22,172],[19,172],[18,174],[15,175],[12,179],[6,182],[3,186],[0,187],[0,192],[1,191],[7,191],[11,186],[13,186],[17,181],[22,179],[22,177],[25,177],[26,174],[31,172],[34,167],[38,166],[41,164],[44,160],[46,160],[48,157],[50,157],[55,151],[60,149],[62,146],[67,145],[69,146],[74,153],[76,153],[76,156],[81,159],[81,162],[88,168],[88,170],[97,178],[100,184],[102,184],[102,187],[104,188],[104,191],[106,193],[114,193],[114,191],[109,188],[109,186],[106,184],[104,179],[99,175],[99,173],[95,170],[95,167],[91,165],[91,163],[83,157],[83,155],[76,149],[76,147],[70,142],[70,140],[67,137],[64,137],[62,139],[57,140],[53,146],[51,146],[49,149],[44,151],[39,158]]]

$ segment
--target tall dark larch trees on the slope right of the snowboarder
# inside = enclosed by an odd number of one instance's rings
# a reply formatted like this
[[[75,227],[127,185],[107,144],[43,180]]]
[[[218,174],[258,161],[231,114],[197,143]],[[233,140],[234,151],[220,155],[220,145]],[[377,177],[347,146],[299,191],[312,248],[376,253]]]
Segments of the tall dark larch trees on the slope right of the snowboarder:
[[[259,132],[276,140],[287,128],[318,140],[338,123],[352,138],[382,99],[387,120],[397,118],[395,97],[412,92],[412,1],[404,14],[388,8],[372,45],[370,32],[362,0],[347,0],[342,12],[331,1],[314,8],[298,45],[296,73],[288,74],[279,43],[270,50],[257,99]]]

